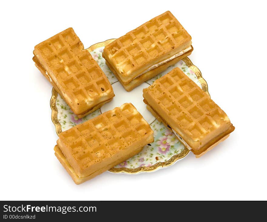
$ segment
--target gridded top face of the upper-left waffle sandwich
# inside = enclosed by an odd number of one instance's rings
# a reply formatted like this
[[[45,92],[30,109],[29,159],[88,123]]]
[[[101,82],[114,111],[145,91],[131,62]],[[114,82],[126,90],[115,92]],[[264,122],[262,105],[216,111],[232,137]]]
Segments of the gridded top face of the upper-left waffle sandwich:
[[[42,52],[61,90],[64,88],[78,103],[94,103],[105,92],[113,93],[105,74],[84,50],[72,28],[38,44],[35,49]]]

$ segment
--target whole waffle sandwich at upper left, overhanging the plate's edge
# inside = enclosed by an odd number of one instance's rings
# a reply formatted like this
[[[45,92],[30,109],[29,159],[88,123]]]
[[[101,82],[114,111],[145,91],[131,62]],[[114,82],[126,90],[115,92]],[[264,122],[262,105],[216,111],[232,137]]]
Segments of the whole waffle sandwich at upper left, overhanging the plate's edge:
[[[34,47],[35,66],[79,118],[99,109],[113,89],[72,28]]]

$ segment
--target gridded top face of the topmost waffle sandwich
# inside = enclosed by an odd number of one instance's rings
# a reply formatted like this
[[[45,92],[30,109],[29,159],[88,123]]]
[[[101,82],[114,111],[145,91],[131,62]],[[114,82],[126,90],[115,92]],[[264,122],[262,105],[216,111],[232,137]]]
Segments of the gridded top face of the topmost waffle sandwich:
[[[140,65],[190,40],[191,36],[171,12],[165,12],[110,43],[104,54],[111,55],[109,62],[116,64],[120,74],[130,75]]]

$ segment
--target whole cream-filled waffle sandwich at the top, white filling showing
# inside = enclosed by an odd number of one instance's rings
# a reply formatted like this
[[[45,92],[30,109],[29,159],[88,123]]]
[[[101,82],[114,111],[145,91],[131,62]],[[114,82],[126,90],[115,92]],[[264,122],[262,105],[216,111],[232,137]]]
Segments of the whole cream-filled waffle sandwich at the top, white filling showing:
[[[130,91],[174,64],[175,58],[190,55],[191,43],[191,36],[167,11],[107,45],[103,58]]]

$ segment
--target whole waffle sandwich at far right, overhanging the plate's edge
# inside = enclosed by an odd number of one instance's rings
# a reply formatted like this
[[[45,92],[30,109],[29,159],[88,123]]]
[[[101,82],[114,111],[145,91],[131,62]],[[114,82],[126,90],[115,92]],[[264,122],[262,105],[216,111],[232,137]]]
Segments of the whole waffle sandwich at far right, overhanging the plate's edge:
[[[200,157],[235,127],[225,112],[179,68],[143,90],[147,109]]]

